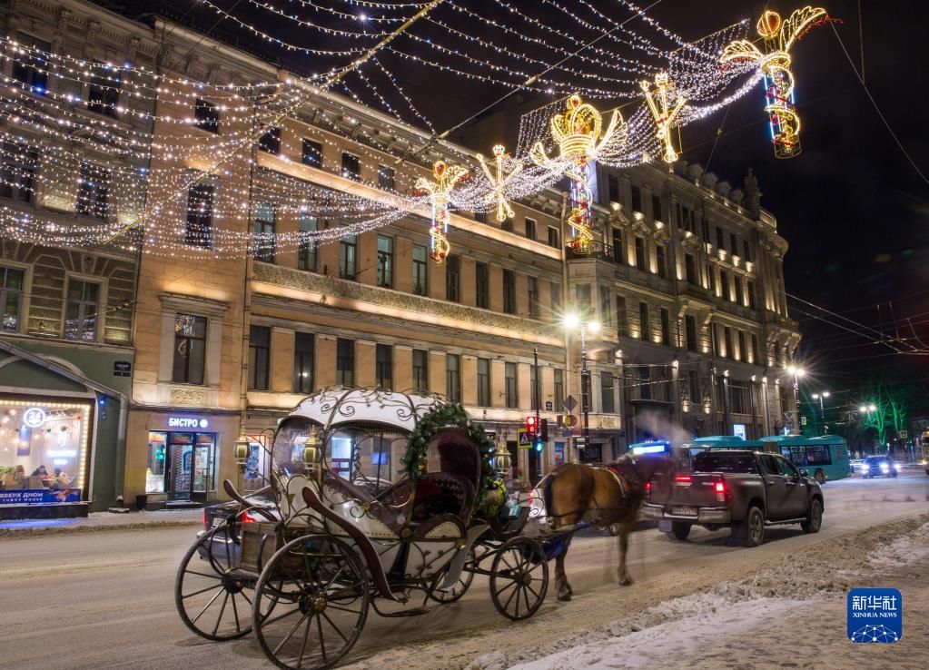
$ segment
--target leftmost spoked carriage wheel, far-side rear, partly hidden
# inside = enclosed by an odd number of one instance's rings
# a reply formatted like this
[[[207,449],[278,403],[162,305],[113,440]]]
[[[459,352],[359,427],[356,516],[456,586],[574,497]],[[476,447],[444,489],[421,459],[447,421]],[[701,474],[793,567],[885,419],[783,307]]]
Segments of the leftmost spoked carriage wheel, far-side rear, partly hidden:
[[[204,532],[177,569],[175,604],[190,630],[222,641],[252,630],[254,578],[239,571],[239,536],[224,523]]]

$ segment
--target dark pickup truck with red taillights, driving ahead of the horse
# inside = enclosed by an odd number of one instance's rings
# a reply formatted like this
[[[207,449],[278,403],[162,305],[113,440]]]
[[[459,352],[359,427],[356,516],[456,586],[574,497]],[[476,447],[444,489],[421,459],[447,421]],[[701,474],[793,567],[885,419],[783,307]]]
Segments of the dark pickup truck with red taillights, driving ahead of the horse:
[[[731,527],[742,545],[757,546],[765,526],[799,523],[818,532],[823,497],[817,480],[775,453],[709,449],[670,486],[653,487],[642,507],[669,537],[686,540],[692,526]]]

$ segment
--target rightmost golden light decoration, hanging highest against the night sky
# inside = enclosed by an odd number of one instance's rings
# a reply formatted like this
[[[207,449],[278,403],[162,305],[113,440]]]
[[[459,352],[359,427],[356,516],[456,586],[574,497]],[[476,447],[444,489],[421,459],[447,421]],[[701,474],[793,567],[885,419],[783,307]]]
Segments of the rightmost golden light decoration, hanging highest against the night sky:
[[[755,24],[765,42],[765,53],[748,40],[726,46],[720,62],[752,60],[765,73],[765,112],[771,122],[774,155],[792,158],[800,153],[800,116],[793,105],[791,47],[819,21],[828,19],[822,7],[804,7],[782,21],[775,11],[765,11]]]

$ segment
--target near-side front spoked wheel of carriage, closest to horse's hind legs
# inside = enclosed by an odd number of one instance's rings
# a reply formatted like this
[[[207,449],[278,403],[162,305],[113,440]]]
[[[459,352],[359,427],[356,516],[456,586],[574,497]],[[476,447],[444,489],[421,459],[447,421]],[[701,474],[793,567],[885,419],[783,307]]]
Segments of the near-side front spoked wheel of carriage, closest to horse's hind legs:
[[[541,545],[514,537],[496,551],[491,564],[493,606],[507,619],[528,619],[548,591],[548,561]]]

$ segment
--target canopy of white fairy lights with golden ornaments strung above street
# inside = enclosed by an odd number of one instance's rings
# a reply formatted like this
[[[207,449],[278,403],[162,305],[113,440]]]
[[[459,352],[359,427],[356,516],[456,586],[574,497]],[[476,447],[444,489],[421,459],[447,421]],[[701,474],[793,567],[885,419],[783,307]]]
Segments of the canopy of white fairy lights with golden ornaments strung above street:
[[[450,249],[452,211],[504,221],[513,216],[511,201],[567,176],[567,242],[583,252],[593,239],[593,164],[664,161],[670,169],[682,128],[763,81],[776,155],[796,155],[790,49],[828,20],[821,8],[798,9],[786,20],[765,11],[755,25],[760,39],[752,41],[750,21],[741,20],[687,41],[629,0],[615,6],[634,25],[592,0],[543,0],[556,21],[506,0],[217,2],[202,0],[244,34],[319,57],[321,71],[220,84],[0,37],[5,236],[231,258],[331,243],[415,215],[431,219],[432,256],[440,263]],[[288,41],[297,34],[313,44]],[[348,65],[334,65],[337,59]],[[444,134],[399,76],[410,67],[550,101],[522,114],[516,147],[488,147],[492,157],[485,158],[437,141]],[[358,106],[392,115],[390,125],[425,144],[398,161],[391,129],[370,130]],[[298,117],[311,123],[294,137],[288,120]],[[346,136],[367,176],[332,158],[323,162],[345,151]],[[307,157],[307,141],[320,156]],[[265,165],[262,151],[278,163]],[[30,206],[40,199],[57,212]],[[270,225],[258,230],[248,220],[256,216]],[[278,218],[293,225],[277,227]]]

